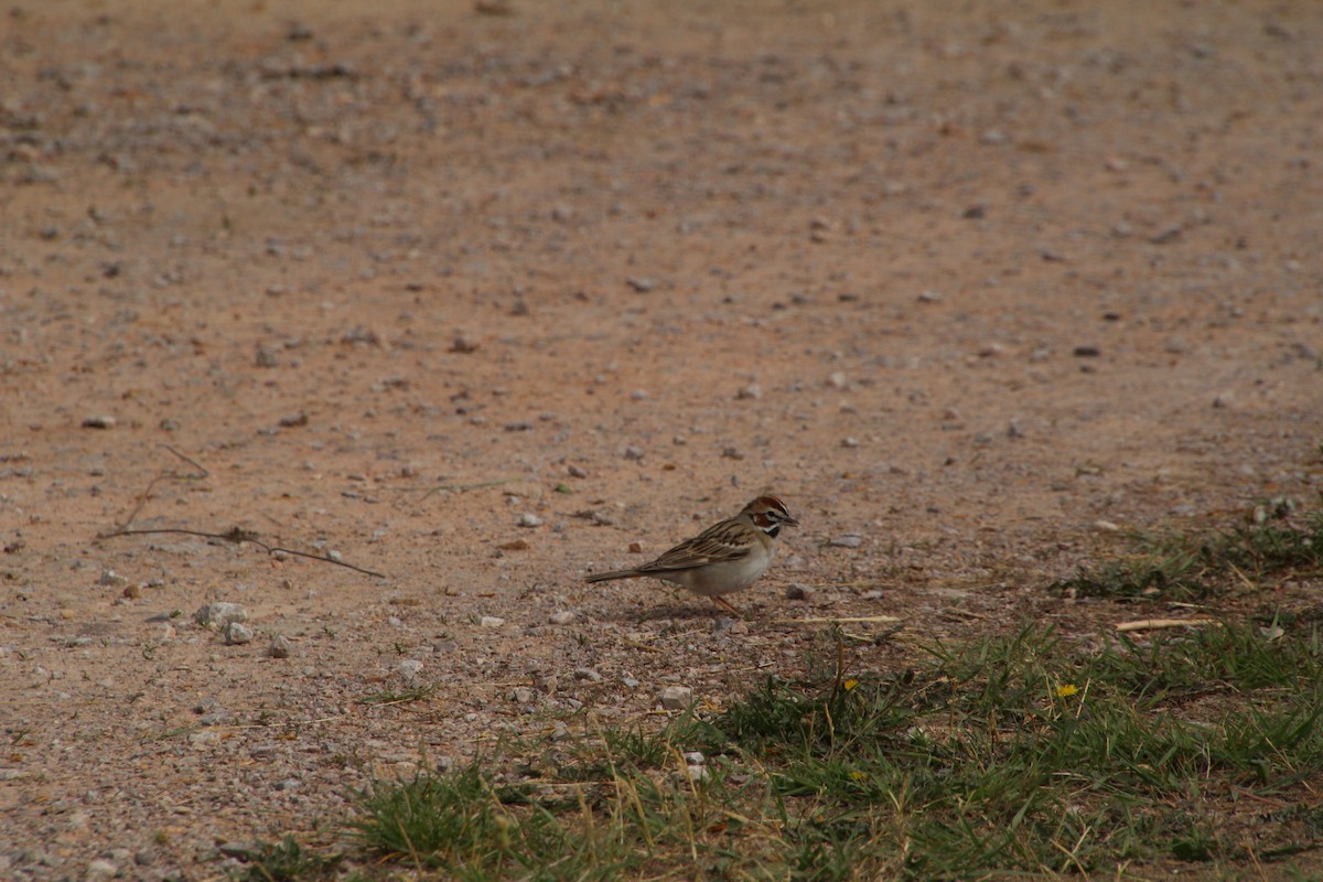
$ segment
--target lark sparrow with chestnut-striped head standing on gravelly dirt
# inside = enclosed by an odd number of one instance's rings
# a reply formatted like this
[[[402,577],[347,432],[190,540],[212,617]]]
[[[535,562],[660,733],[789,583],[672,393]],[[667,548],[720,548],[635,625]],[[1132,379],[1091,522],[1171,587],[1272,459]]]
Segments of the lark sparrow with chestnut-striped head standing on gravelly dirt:
[[[721,595],[742,591],[758,581],[777,554],[782,526],[799,526],[786,504],[775,496],[759,496],[732,518],[713,524],[692,540],[665,551],[656,561],[632,570],[594,573],[585,582],[636,579],[651,575],[742,615]]]

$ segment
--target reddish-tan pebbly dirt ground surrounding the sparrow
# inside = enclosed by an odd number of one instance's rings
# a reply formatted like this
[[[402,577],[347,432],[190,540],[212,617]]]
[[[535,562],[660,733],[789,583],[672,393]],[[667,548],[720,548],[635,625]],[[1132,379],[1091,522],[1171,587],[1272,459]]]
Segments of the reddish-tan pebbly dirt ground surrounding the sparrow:
[[[1097,633],[1097,521],[1316,501],[1323,5],[505,9],[5,8],[0,877],[332,842],[421,754],[794,674],[783,619]],[[734,629],[581,583],[765,489]]]

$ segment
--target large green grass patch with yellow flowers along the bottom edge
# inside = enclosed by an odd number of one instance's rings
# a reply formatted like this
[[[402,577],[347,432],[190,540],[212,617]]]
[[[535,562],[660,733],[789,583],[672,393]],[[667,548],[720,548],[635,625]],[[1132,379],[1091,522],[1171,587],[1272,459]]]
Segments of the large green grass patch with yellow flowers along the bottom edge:
[[[927,655],[885,680],[810,657],[709,721],[544,744],[560,759],[534,758],[519,785],[497,771],[536,744],[377,782],[355,846],[438,879],[1113,875],[1323,846],[1323,813],[1261,808],[1310,804],[1323,783],[1316,629],[1082,648],[1027,627]],[[704,780],[688,750],[706,752]]]

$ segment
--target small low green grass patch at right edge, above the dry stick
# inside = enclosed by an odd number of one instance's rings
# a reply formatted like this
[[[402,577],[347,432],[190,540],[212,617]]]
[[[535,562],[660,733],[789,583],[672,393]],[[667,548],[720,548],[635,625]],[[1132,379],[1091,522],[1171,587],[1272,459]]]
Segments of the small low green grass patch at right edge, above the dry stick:
[[[1323,510],[1287,500],[1256,506],[1244,524],[1203,533],[1132,533],[1132,554],[1081,567],[1060,591],[1086,598],[1203,600],[1291,569],[1323,567]]]

